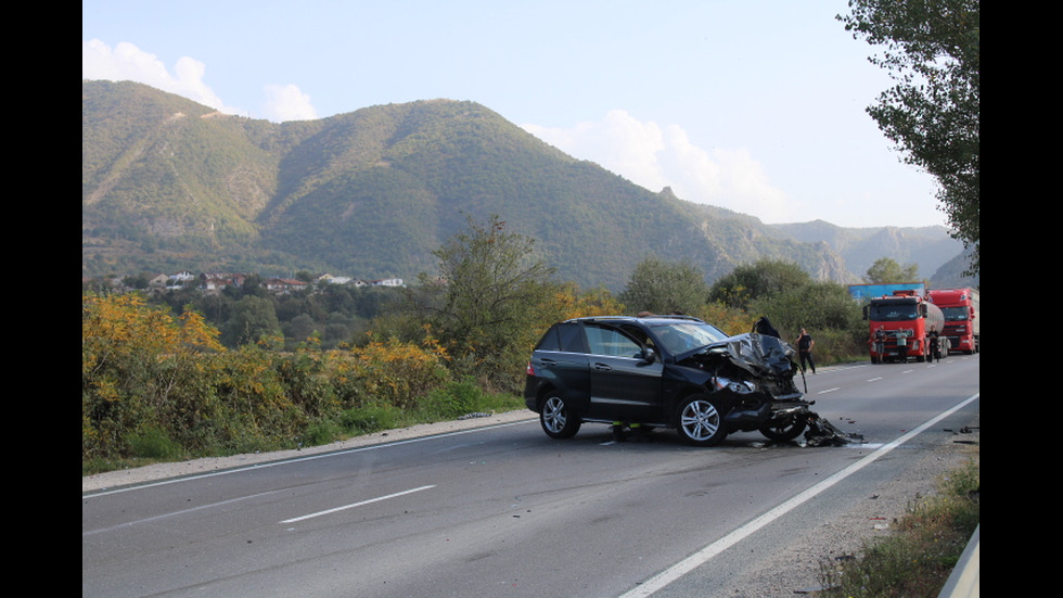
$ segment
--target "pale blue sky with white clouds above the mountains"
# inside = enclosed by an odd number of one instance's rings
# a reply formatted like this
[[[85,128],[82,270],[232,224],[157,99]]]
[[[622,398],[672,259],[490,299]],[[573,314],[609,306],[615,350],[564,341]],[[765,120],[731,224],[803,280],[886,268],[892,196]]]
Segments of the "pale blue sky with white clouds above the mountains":
[[[81,78],[281,123],[446,98],[651,191],[842,227],[947,218],[866,109],[846,0],[82,0]]]

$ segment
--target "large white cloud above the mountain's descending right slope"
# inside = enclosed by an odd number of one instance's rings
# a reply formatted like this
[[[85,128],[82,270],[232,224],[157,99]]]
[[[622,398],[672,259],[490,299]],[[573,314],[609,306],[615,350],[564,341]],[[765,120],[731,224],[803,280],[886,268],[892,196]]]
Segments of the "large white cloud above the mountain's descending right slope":
[[[623,110],[567,129],[524,128],[574,157],[595,162],[651,191],[671,187],[687,201],[750,214],[766,222],[793,221],[786,194],[771,185],[764,167],[745,149],[704,150],[692,144],[681,127],[661,128]]]

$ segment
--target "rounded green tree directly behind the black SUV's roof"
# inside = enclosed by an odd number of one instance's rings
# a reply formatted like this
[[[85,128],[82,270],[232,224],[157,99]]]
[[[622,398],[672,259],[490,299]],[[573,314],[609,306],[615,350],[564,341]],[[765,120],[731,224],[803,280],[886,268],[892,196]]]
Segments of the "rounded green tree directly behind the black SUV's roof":
[[[635,267],[618,298],[629,311],[693,314],[707,296],[704,272],[687,262],[667,263],[651,256]]]

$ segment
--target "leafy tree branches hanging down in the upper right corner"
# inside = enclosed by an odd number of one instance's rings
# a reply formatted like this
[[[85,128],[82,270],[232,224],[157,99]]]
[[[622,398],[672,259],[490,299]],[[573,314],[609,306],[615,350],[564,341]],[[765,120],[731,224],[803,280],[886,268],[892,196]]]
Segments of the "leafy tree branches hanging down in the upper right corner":
[[[854,38],[882,46],[873,64],[897,85],[868,113],[905,161],[937,179],[953,237],[979,270],[979,0],[849,0]]]

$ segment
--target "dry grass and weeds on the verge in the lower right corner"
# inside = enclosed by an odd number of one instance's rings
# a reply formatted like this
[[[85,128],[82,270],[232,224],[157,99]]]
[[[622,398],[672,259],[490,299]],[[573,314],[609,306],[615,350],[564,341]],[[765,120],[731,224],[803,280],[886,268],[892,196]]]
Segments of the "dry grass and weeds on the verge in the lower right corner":
[[[975,455],[939,481],[855,559],[820,567],[824,598],[936,598],[981,522],[981,468]]]

